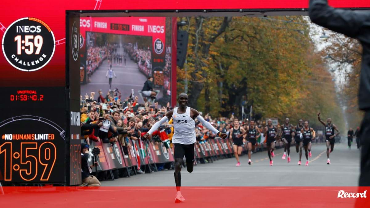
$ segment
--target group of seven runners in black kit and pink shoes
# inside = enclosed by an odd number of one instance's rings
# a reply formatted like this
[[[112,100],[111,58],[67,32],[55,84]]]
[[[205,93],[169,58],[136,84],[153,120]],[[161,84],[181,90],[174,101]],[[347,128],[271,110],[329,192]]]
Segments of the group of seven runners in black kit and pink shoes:
[[[325,137],[326,137],[326,154],[327,154],[327,162],[326,164],[330,164],[329,155],[334,150],[334,143],[335,143],[335,136],[337,136],[340,132],[336,125],[332,123],[332,119],[328,118],[326,123],[324,123],[320,119],[320,113],[317,114],[317,118],[319,121],[325,126]],[[337,131],[337,133],[334,132]],[[284,154],[282,159],[286,159],[288,163],[290,163],[290,144],[292,143],[292,139],[294,138],[296,144],[296,151],[299,152],[299,161],[298,165],[301,165],[302,159],[302,149],[305,149],[305,156],[306,156],[306,166],[309,164],[308,158],[312,157],[311,154],[311,147],[312,147],[312,140],[315,139],[315,131],[313,128],[309,127],[309,122],[303,122],[302,119],[299,119],[298,125],[293,126],[289,123],[289,118],[285,119],[284,125],[281,126],[281,131],[278,133],[277,127],[272,125],[272,120],[268,120],[268,125],[263,128],[263,133],[266,136],[266,146],[267,146],[267,153],[270,159],[270,166],[273,166],[272,158],[275,157],[274,150],[275,150],[275,143],[277,138],[281,138],[284,143]],[[240,166],[239,156],[242,154],[242,147],[247,142],[248,146],[248,164],[252,164],[251,160],[251,151],[255,150],[255,145],[257,143],[257,138],[259,138],[261,134],[261,130],[255,125],[253,120],[250,121],[249,126],[247,129],[244,129],[240,126],[239,121],[234,121],[234,126],[230,130],[230,139],[233,141],[233,149],[236,161],[236,166]],[[244,135],[247,135],[246,138]]]

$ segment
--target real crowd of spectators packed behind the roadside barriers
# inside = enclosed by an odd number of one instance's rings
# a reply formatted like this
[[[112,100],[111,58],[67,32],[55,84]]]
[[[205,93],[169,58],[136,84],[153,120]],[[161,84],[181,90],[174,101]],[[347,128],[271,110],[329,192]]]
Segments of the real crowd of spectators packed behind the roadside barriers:
[[[85,99],[81,96],[81,134],[87,140],[87,144],[91,140],[101,140],[103,143],[120,140],[122,146],[129,146],[129,139],[139,139],[168,110],[172,109],[169,103],[160,108],[158,103],[151,105],[149,102],[138,103],[138,100],[138,96],[132,94],[127,98],[122,98],[117,88],[105,94],[102,91],[98,91],[96,97],[95,92],[91,92],[90,97],[85,95]],[[204,118],[220,132],[226,134],[229,134],[233,120],[235,120],[233,115],[229,118],[212,118],[209,114],[206,114]],[[248,121],[240,121],[240,124],[246,128]],[[256,121],[256,125],[263,129],[265,122]],[[173,133],[172,121],[170,120],[161,129],[165,129],[165,132],[169,134],[168,138],[162,135],[162,138],[158,136],[158,138],[154,139],[157,139],[157,141],[169,139],[171,141],[171,132]],[[203,127],[199,122],[196,122],[195,131],[198,142],[216,137],[214,133]],[[257,144],[259,149],[263,149],[264,140],[262,133]]]

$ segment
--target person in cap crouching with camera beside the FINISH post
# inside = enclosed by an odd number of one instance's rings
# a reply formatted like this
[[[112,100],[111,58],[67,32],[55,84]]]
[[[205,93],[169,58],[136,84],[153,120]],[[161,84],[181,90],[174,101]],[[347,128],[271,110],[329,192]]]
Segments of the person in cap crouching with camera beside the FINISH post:
[[[100,181],[94,176],[90,175],[92,173],[91,168],[98,165],[95,161],[93,165],[89,166],[89,146],[88,144],[81,144],[81,169],[82,169],[82,184],[81,186],[100,186]]]

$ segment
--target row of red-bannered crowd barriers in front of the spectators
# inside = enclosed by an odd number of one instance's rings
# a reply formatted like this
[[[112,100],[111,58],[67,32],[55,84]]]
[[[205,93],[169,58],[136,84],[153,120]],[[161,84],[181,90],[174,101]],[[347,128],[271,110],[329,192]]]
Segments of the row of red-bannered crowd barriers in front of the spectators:
[[[81,143],[86,143],[81,140]],[[108,171],[111,179],[114,180],[112,170],[125,168],[127,176],[130,176],[130,168],[136,174],[140,167],[149,168],[148,172],[157,171],[157,164],[173,163],[174,153],[171,148],[167,148],[163,142],[152,142],[149,140],[131,140],[131,148],[121,145],[120,141],[114,143],[102,143],[90,140],[89,165],[93,164],[92,149],[98,147],[100,154],[97,156],[98,166],[93,168],[97,172]],[[243,147],[246,150],[246,147]],[[210,162],[220,158],[232,157],[234,151],[232,143],[229,140],[223,140],[219,137],[208,139],[207,141],[197,142],[194,146],[195,159],[209,159]]]

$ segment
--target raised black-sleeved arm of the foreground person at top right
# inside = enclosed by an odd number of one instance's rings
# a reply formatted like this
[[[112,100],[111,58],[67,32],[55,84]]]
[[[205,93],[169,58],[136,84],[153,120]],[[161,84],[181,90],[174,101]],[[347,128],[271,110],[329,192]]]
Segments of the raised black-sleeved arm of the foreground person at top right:
[[[330,7],[327,0],[310,0],[309,16],[313,23],[356,38],[364,23],[369,21],[369,11],[351,11]],[[370,35],[370,34],[369,34]]]

